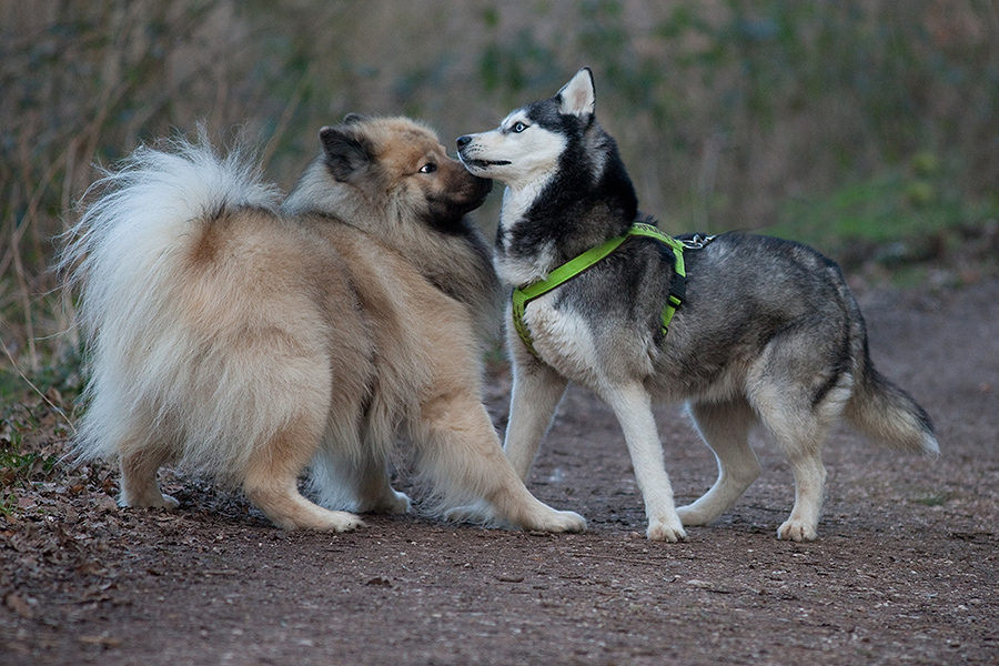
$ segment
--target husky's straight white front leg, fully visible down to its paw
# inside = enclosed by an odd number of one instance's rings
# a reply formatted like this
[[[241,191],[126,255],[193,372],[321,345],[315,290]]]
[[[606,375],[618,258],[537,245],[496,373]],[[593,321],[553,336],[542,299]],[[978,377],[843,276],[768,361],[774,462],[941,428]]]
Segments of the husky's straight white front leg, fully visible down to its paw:
[[[673,486],[663,461],[663,444],[652,413],[652,400],[640,384],[615,386],[604,400],[624,431],[638,490],[645,500],[650,541],[678,542],[687,537],[673,503]]]

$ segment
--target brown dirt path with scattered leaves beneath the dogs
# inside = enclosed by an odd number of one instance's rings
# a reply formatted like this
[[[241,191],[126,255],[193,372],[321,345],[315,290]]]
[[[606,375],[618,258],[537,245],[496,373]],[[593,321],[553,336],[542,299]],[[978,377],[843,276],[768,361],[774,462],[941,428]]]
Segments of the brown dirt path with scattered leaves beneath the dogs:
[[[100,465],[18,487],[0,514],[0,665],[999,663],[999,280],[860,302],[877,366],[935,418],[942,455],[837,431],[814,543],[776,538],[794,487],[763,438],[763,474],[730,512],[647,542],[620,428],[573,387],[528,486],[584,514],[584,534],[412,515],[287,533],[172,472],[178,511],[123,509]],[[494,369],[500,428],[508,391]],[[714,457],[682,408],[657,417],[685,504]]]

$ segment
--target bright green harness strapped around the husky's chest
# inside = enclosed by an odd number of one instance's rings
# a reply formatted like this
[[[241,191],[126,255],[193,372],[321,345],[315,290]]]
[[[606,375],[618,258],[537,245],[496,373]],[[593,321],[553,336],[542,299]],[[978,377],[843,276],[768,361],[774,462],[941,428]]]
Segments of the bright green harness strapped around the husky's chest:
[[[669,322],[673,321],[673,315],[676,314],[676,309],[683,304],[684,299],[686,297],[687,273],[684,269],[684,250],[688,248],[703,248],[706,243],[714,240],[715,236],[695,236],[693,241],[682,242],[666,235],[650,224],[642,224],[636,222],[624,235],[613,238],[603,245],[593,248],[592,250],[587,250],[579,256],[562,264],[561,266],[548,273],[547,280],[532,282],[526,286],[521,286],[514,290],[514,327],[517,330],[517,334],[521,336],[521,340],[524,341],[524,345],[527,347],[527,351],[529,351],[535,356],[538,355],[531,340],[531,331],[527,330],[527,324],[524,322],[524,312],[527,310],[527,304],[538,296],[548,293],[556,286],[565,284],[573,278],[582,274],[584,271],[595,265],[602,259],[617,250],[617,248],[622,243],[624,243],[626,240],[628,240],[628,238],[633,235],[647,236],[650,239],[655,239],[660,243],[665,243],[670,250],[673,250],[673,255],[676,258],[676,265],[673,273],[673,284],[669,285],[669,297],[666,302],[666,307],[663,309],[663,335],[666,334]]]

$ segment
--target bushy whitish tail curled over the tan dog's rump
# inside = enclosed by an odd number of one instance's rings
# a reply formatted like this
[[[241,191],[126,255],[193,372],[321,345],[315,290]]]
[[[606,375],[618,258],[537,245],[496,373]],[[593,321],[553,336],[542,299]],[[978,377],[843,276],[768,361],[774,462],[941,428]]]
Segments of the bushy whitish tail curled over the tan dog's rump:
[[[80,457],[113,457],[129,441],[175,447],[155,437],[183,436],[165,415],[199,374],[191,367],[196,341],[175,321],[185,258],[212,219],[236,206],[275,210],[279,198],[245,151],[221,157],[203,130],[196,142],[139,148],[91,188],[58,264],[64,284],[79,291],[89,347]]]

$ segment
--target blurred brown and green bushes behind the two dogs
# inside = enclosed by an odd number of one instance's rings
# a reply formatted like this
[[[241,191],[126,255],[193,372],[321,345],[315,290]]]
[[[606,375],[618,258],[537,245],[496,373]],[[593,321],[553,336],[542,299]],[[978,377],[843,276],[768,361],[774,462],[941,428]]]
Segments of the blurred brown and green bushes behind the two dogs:
[[[667,231],[845,260],[997,235],[993,0],[0,0],[0,398],[19,373],[79,382],[48,266],[94,164],[204,122],[287,189],[347,112],[420,117],[451,148],[584,64]]]

